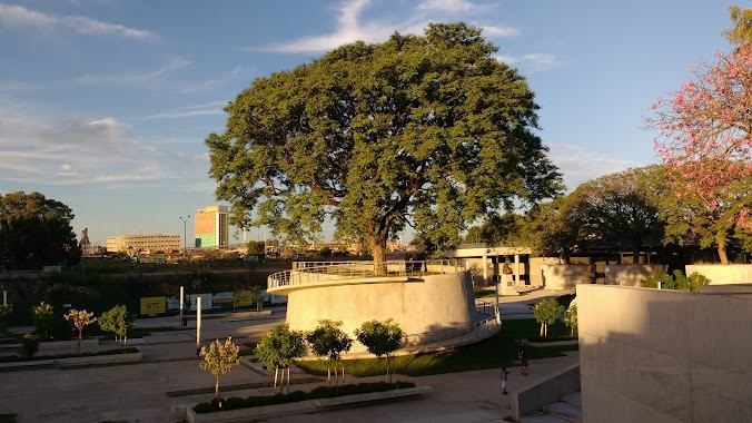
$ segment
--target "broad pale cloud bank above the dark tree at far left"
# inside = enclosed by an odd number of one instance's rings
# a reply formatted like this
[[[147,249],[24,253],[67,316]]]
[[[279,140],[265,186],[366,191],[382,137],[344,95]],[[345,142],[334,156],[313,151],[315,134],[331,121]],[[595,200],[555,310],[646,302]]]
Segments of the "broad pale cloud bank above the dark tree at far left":
[[[57,186],[91,184],[136,185],[188,178],[177,154],[129,135],[115,117],[59,120],[36,116],[23,106],[0,102],[0,185],[8,183]],[[191,165],[192,166],[192,165]],[[127,184],[123,184],[127,185]]]

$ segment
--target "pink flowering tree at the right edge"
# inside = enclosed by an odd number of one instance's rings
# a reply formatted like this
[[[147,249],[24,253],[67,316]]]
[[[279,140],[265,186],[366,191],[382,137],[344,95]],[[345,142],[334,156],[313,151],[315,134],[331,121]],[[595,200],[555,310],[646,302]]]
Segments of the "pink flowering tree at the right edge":
[[[660,131],[655,151],[675,197],[674,235],[686,229],[702,246],[715,244],[728,264],[729,238],[752,229],[752,46],[690,71],[681,90],[653,105],[647,127]]]

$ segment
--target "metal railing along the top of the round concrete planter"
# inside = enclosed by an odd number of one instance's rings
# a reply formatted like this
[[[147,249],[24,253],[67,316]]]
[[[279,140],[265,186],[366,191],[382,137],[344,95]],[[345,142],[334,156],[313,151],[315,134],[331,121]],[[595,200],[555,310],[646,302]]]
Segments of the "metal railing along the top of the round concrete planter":
[[[295,262],[293,270],[277,272],[267,278],[269,289],[332,281],[366,277],[417,278],[464,272],[465,260]]]

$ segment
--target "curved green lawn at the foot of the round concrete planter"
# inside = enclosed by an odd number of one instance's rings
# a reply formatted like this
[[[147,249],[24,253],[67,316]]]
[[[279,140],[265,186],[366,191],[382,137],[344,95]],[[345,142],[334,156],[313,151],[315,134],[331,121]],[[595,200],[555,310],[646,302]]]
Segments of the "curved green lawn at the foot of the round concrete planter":
[[[407,376],[512,367],[518,364],[516,340],[537,336],[538,332],[540,325],[535,319],[505,321],[502,332],[488,340],[446,352],[395,357],[393,366],[396,373]],[[550,336],[568,333],[568,328],[561,322],[548,327]],[[577,350],[577,346],[528,346],[527,355],[531,360],[546,358],[573,350]],[[347,374],[358,377],[386,374],[386,358],[348,360],[342,364]],[[326,363],[323,361],[299,361],[296,365],[307,373],[326,375]]]

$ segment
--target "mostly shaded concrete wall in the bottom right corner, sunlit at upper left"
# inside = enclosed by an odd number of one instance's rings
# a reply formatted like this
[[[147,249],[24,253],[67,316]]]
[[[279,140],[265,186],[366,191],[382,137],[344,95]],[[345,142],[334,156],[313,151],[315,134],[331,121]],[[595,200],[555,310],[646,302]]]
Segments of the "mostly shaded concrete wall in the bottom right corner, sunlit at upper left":
[[[749,422],[752,299],[577,285],[584,422]]]

